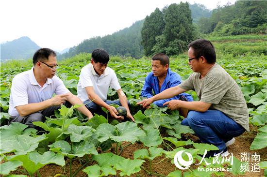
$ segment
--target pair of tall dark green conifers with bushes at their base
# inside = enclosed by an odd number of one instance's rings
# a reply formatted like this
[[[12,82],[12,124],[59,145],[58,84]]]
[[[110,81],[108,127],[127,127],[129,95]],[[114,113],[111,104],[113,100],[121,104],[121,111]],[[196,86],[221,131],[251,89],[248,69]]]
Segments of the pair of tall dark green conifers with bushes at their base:
[[[145,55],[163,52],[178,55],[184,52],[193,36],[189,4],[170,4],[161,12],[156,9],[147,16],[141,30]]]

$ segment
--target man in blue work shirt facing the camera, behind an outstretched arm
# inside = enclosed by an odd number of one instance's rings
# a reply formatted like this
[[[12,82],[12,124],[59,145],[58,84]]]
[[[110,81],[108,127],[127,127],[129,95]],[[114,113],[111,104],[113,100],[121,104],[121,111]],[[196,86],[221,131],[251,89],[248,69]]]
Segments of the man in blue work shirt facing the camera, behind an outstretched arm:
[[[146,79],[144,86],[141,91],[142,97],[150,98],[153,94],[158,94],[167,88],[178,86],[182,83],[181,77],[179,74],[174,73],[169,68],[169,58],[163,53],[158,53],[154,55],[151,59],[152,72],[150,72]],[[169,99],[163,99],[155,101],[159,107],[165,107],[163,104],[170,100],[184,100],[184,101],[193,101],[191,95],[187,93],[182,93],[176,95]],[[149,108],[149,107],[148,107]],[[181,115],[186,117],[187,110],[179,110]]]

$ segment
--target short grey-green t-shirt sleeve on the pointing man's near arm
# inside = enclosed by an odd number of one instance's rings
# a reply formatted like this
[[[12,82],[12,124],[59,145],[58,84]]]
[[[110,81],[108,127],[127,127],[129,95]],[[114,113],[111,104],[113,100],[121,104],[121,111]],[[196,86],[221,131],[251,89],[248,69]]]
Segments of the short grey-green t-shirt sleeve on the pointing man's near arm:
[[[218,104],[230,86],[222,79],[209,77],[205,80],[200,101]]]

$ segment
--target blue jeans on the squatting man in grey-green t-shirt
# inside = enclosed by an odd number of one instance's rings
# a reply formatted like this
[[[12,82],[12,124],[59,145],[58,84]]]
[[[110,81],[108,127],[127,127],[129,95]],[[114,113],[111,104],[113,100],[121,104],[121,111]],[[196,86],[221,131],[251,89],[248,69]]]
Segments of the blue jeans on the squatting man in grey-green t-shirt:
[[[213,144],[219,151],[226,148],[225,143],[245,132],[245,129],[221,111],[190,111],[181,123],[190,126],[202,143]]]

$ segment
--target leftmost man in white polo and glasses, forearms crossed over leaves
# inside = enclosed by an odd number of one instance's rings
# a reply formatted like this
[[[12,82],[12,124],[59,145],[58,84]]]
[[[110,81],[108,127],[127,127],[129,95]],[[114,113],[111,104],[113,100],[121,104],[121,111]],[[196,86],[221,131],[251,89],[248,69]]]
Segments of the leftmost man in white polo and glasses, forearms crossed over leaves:
[[[91,112],[82,101],[73,95],[58,78],[56,73],[56,53],[49,48],[41,48],[33,55],[33,68],[17,74],[12,80],[8,113],[11,122],[20,122],[39,130],[33,121],[45,121],[54,115],[61,104],[80,104],[78,108],[88,118]],[[56,96],[52,97],[53,94]]]

